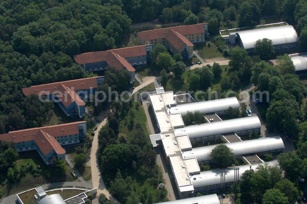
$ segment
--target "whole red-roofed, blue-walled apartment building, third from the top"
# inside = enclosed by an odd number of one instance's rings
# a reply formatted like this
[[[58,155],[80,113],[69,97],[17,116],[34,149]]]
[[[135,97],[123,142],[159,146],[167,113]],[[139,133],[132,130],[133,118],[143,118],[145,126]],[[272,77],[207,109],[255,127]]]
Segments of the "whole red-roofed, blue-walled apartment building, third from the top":
[[[46,96],[48,100],[56,102],[67,116],[82,118],[85,114],[83,99],[93,94],[103,81],[104,77],[90,77],[31,86],[23,88],[22,92],[25,96]]]

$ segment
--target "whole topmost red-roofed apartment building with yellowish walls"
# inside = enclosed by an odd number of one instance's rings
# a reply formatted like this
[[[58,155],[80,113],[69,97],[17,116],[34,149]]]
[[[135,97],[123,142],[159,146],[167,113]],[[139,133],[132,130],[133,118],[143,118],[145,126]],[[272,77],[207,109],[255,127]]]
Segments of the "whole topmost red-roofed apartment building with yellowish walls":
[[[138,44],[161,44],[172,53],[190,59],[193,57],[193,43],[205,41],[208,34],[208,23],[146,30],[138,32]]]

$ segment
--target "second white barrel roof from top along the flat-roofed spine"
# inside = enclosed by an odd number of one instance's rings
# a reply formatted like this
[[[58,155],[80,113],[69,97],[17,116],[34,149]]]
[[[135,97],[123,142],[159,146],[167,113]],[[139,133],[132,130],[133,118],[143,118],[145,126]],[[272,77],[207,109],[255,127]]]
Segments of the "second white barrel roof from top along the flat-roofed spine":
[[[174,132],[176,135],[188,135],[189,138],[195,138],[254,128],[261,128],[261,122],[257,116],[189,125],[184,128],[177,128]]]

